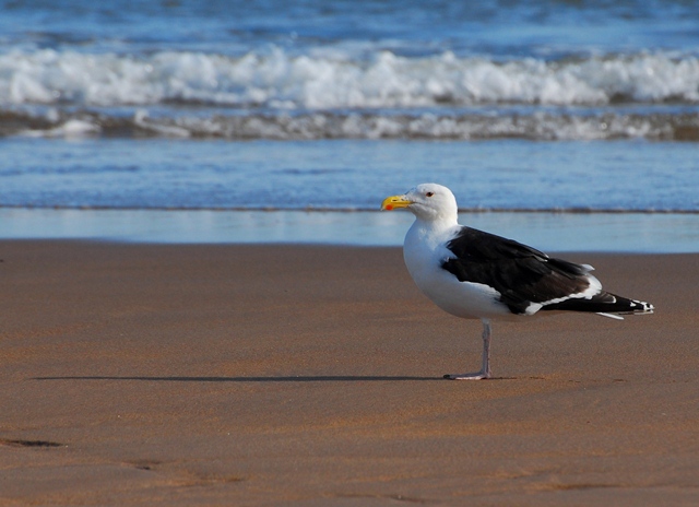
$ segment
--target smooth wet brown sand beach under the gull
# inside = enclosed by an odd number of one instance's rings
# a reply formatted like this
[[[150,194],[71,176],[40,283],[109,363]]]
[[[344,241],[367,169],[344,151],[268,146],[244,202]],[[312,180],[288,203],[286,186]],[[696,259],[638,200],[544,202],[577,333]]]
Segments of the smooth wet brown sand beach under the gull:
[[[699,255],[481,325],[398,248],[0,241],[0,505],[697,505]]]

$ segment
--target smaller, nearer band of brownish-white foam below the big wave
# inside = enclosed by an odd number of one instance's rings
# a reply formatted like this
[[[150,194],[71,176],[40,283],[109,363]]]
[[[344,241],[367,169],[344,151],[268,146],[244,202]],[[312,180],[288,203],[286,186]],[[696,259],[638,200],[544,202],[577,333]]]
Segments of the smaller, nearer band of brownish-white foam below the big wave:
[[[7,119],[7,121],[4,121]],[[137,109],[132,116],[108,117],[97,113],[57,113],[42,116],[0,115],[0,135],[94,137],[135,135],[168,138],[220,138],[229,140],[276,139],[531,139],[612,140],[652,139],[699,141],[699,115],[653,113],[496,115],[395,115],[382,111],[336,114],[256,114],[151,116]]]

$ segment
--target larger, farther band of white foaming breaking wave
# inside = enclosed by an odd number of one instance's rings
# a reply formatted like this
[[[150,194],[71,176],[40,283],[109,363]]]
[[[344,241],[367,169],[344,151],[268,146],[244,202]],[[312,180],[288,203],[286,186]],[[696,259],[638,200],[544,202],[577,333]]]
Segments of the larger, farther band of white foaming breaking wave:
[[[42,49],[0,55],[0,105],[209,103],[281,109],[412,108],[442,104],[602,105],[699,102],[699,59],[665,52],[498,62],[451,52],[365,60],[342,54],[241,58]]]

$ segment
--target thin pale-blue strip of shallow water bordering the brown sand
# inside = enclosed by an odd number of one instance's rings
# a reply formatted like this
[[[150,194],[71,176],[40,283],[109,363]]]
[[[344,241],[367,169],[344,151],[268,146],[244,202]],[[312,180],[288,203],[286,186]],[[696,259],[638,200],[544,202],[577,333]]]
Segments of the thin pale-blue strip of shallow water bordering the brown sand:
[[[459,219],[544,251],[699,251],[692,213],[469,212]],[[0,208],[0,240],[400,246],[412,221],[410,213],[374,211]]]

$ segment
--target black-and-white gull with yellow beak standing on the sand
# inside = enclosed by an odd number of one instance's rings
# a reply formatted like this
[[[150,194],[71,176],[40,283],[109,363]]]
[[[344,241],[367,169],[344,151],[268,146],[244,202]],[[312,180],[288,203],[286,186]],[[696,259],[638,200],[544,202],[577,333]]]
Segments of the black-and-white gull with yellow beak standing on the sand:
[[[546,310],[588,311],[615,319],[653,313],[649,303],[603,291],[589,264],[556,259],[512,239],[460,225],[457,199],[447,187],[422,184],[381,203],[381,210],[401,208],[415,215],[405,235],[403,258],[417,287],[442,310],[483,322],[481,370],[445,378],[491,377],[494,319],[513,320]]]

